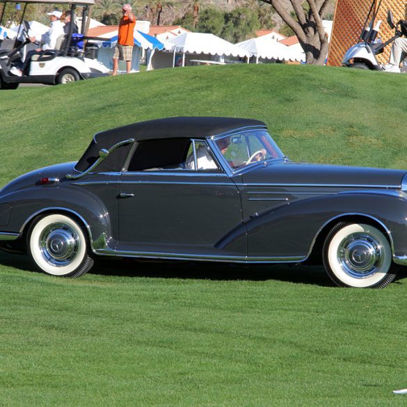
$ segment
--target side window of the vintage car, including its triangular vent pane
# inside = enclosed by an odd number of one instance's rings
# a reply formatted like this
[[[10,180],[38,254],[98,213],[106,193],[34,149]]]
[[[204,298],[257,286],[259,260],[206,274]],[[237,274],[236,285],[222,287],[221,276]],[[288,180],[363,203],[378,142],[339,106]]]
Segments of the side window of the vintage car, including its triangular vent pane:
[[[160,138],[139,141],[128,171],[218,170],[207,144],[189,138]]]

